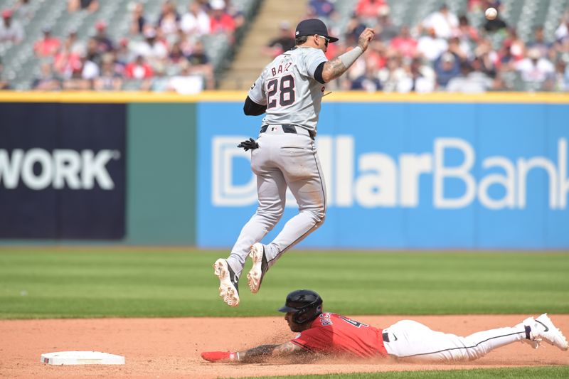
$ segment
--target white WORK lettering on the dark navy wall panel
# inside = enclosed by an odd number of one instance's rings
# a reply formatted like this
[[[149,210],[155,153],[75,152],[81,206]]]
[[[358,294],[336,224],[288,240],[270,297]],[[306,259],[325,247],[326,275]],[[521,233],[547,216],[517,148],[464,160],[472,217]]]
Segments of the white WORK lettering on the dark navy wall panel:
[[[107,164],[121,158],[118,150],[0,149],[0,187],[33,190],[70,188],[103,190],[115,188]]]

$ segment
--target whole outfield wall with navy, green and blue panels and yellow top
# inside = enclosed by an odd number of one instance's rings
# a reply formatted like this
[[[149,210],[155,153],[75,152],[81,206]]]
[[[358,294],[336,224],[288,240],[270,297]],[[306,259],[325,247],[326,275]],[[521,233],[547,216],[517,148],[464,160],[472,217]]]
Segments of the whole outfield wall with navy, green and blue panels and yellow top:
[[[67,242],[61,215],[77,209],[83,222],[99,224],[84,228],[85,234],[75,234],[73,240],[227,248],[255,212],[255,177],[249,168],[249,154],[236,145],[256,137],[262,117],[243,115],[243,93],[179,97],[11,92],[11,97],[4,96],[8,97],[0,97],[2,114],[28,107],[29,114],[38,115],[38,104],[58,108],[60,116],[52,124],[60,139],[46,144],[44,139],[14,137],[15,130],[18,136],[26,130],[35,135],[38,125],[50,119],[49,114],[36,117],[38,122],[33,117],[25,122],[12,119],[8,127],[2,122],[0,209],[9,210],[9,215],[0,216],[0,226],[18,229],[18,223],[26,225],[25,220],[41,216],[53,220],[46,229],[56,234],[47,238]],[[324,100],[317,146],[326,178],[328,214],[326,223],[302,246],[569,247],[569,95],[334,93]],[[81,111],[75,112],[71,122],[75,130],[62,121],[61,114],[78,106]],[[100,119],[101,112],[93,111],[97,107],[119,111]],[[117,120],[124,122],[117,126]],[[102,205],[96,204],[101,193],[110,191],[100,188],[105,182],[99,183],[96,175],[93,188],[71,189],[72,175],[58,176],[57,170],[45,188],[29,188],[21,176],[14,187],[14,151],[75,149],[76,155],[83,156],[81,151],[91,149],[96,157],[97,151],[119,150],[112,147],[117,138],[111,137],[114,134],[109,128],[124,130],[126,136],[124,206],[104,203],[109,207],[106,220],[92,217],[105,213]],[[71,146],[65,139],[73,130],[79,136],[91,136],[88,131],[92,129],[106,130],[106,141],[102,137],[95,145],[73,142]],[[92,142],[95,137],[87,140]],[[52,155],[54,162],[65,166],[65,156]],[[24,161],[25,157],[22,169]],[[28,157],[28,166],[31,161]],[[120,166],[121,159],[108,162],[105,168],[111,169],[112,164]],[[35,166],[28,176],[41,178],[41,162]],[[83,183],[83,173],[77,172]],[[120,174],[109,171],[109,175],[120,183]],[[6,183],[11,188],[6,188]],[[116,198],[119,187],[112,189],[117,190]],[[55,197],[59,203],[55,201],[52,208],[38,215],[31,204],[42,196]],[[75,196],[71,208],[65,205],[70,196]],[[98,200],[93,201],[92,196]],[[108,223],[121,220],[121,210],[122,234],[89,235],[97,228],[119,230]],[[289,198],[283,221],[295,213],[294,198]],[[29,225],[23,229],[30,233]],[[277,231],[269,233],[267,240]],[[0,243],[23,237],[46,239],[45,234],[6,233],[0,232]]]

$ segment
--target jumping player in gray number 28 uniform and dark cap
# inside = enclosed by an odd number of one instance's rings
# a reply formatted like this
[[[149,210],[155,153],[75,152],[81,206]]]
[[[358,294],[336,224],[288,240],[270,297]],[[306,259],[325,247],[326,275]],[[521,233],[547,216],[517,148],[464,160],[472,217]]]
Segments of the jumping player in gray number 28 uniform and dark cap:
[[[277,56],[249,90],[243,110],[248,115],[265,113],[259,138],[242,142],[251,150],[251,169],[257,176],[259,206],[243,226],[227,260],[213,265],[220,279],[219,295],[230,306],[238,306],[238,282],[250,256],[253,265],[247,275],[249,289],[256,293],[267,269],[276,260],[324,223],[326,190],[314,138],[325,83],[338,78],[368,48],[373,29],[366,28],[358,46],[327,60],[324,53],[329,36],[316,18],[301,21],[296,29],[296,46]],[[291,218],[268,245],[262,237],[277,225],[285,210],[287,188],[296,198],[299,214]]]

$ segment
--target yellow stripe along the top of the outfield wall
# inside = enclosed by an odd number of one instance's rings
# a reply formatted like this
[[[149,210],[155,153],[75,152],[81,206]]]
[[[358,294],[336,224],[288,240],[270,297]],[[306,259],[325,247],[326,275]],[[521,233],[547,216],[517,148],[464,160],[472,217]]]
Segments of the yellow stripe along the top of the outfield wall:
[[[0,102],[243,102],[246,91],[204,91],[197,95],[154,92],[19,92],[0,91]],[[400,94],[385,92],[331,92],[323,102],[422,103],[536,103],[569,104],[569,93],[486,92],[466,95],[448,92]]]

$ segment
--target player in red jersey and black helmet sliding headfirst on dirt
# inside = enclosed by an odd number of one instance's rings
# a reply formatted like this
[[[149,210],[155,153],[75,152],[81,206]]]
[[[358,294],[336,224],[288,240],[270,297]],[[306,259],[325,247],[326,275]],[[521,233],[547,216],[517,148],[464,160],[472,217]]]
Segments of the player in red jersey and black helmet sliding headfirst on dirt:
[[[291,331],[298,332],[281,345],[263,345],[246,351],[206,351],[201,357],[210,362],[262,362],[276,357],[296,357],[310,361],[319,355],[347,355],[360,358],[393,356],[422,362],[472,361],[500,346],[517,341],[538,348],[546,341],[561,350],[568,349],[563,333],[547,314],[528,317],[511,327],[479,331],[467,337],[432,331],[417,321],[403,320],[386,329],[323,312],[322,299],[314,291],[300,289],[287,296],[285,319]]]

